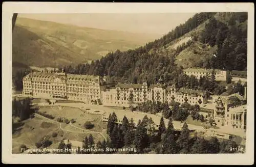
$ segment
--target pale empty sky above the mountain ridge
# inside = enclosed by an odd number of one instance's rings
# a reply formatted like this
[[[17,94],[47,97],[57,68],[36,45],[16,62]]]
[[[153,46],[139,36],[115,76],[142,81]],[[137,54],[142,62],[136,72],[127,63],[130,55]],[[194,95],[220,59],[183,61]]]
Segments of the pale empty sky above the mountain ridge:
[[[195,13],[74,13],[18,14],[37,20],[53,21],[104,30],[164,35]]]

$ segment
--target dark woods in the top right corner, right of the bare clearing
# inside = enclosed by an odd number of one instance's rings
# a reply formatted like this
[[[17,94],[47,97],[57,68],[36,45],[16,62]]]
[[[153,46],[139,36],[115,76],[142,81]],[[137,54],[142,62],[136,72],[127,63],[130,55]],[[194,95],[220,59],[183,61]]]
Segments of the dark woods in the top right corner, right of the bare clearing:
[[[216,57],[208,59],[208,66],[205,68],[246,70],[247,13],[222,15],[225,15],[226,20],[221,21],[211,17],[200,34],[200,42],[218,47]]]

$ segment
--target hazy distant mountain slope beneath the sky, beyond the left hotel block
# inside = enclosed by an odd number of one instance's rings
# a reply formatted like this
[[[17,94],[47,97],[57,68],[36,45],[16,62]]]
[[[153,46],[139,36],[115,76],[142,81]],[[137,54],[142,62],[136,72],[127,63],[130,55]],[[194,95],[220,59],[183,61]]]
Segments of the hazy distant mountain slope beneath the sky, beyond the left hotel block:
[[[12,36],[12,61],[14,65],[36,67],[86,63],[117,49],[134,49],[156,37],[17,18]]]

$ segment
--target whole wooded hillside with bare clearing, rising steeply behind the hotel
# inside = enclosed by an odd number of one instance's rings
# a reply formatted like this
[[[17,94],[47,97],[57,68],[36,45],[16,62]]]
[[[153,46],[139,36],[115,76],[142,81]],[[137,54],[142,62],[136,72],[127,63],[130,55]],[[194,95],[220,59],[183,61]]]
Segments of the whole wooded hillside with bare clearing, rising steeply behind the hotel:
[[[184,41],[184,42],[183,42]],[[247,13],[199,13],[162,38],[134,50],[108,53],[89,64],[68,66],[70,73],[108,75],[110,82],[176,83],[184,66],[183,54],[193,67],[245,70]],[[190,52],[188,52],[190,50]],[[232,61],[230,61],[232,60]],[[178,65],[177,65],[178,64]]]

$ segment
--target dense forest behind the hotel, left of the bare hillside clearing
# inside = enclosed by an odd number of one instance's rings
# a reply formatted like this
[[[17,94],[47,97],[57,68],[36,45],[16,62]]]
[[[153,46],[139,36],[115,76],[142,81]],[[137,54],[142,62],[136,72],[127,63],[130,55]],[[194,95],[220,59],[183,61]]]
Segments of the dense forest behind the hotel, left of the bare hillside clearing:
[[[199,13],[160,39],[134,50],[117,50],[89,64],[65,67],[66,72],[78,74],[108,75],[111,81],[143,82],[154,84],[160,76],[164,82],[175,83],[182,73],[176,65],[176,54],[165,48],[167,44],[195,29],[215,13]]]

